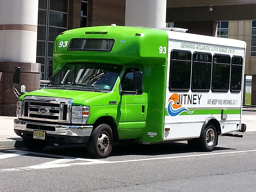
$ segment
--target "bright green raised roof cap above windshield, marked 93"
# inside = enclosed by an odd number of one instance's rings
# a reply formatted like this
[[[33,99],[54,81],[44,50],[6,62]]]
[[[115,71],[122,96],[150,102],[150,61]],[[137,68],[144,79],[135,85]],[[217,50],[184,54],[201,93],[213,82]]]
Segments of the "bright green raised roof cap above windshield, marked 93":
[[[69,49],[71,40],[80,38],[114,39],[115,42],[109,51]],[[166,63],[167,55],[159,54],[160,46],[168,46],[168,35],[161,29],[125,26],[71,29],[61,33],[55,40],[53,74],[68,62],[161,65]]]

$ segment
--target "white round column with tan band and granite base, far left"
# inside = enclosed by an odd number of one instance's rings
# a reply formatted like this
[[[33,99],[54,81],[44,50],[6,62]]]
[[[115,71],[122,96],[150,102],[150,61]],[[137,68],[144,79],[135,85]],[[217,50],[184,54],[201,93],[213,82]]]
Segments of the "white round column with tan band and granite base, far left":
[[[39,88],[37,17],[38,0],[0,0],[0,115],[15,116],[16,113],[17,98],[12,93],[15,68],[21,68],[20,83],[25,84],[28,91]]]

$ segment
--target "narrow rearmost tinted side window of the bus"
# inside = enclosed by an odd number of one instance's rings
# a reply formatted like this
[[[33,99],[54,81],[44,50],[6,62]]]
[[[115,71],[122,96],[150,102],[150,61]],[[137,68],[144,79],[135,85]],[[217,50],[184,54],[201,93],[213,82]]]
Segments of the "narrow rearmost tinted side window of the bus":
[[[234,56],[231,61],[230,92],[240,92],[242,87],[243,58]]]

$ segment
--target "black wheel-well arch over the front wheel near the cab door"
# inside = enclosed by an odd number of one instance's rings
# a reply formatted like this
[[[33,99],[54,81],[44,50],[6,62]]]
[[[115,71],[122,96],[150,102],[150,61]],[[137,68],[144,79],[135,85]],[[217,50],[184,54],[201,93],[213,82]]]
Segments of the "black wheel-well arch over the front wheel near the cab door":
[[[94,124],[92,125],[93,126],[93,130],[99,126],[100,124],[107,124],[111,127],[112,129],[112,132],[113,132],[113,137],[114,137],[114,142],[118,142],[119,141],[119,135],[118,135],[118,130],[117,130],[117,125],[116,123],[114,122],[114,119],[110,116],[102,116],[102,117],[99,117],[95,122]]]

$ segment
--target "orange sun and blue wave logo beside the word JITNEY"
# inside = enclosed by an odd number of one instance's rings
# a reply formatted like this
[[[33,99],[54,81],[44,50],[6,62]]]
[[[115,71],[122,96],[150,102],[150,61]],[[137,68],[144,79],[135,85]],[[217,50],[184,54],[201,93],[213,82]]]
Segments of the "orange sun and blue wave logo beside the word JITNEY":
[[[180,96],[177,93],[172,94],[168,101],[167,112],[170,116],[180,115],[182,112],[192,114],[194,111],[189,111],[187,108],[182,107],[180,104]]]

